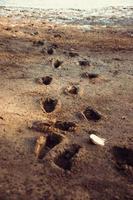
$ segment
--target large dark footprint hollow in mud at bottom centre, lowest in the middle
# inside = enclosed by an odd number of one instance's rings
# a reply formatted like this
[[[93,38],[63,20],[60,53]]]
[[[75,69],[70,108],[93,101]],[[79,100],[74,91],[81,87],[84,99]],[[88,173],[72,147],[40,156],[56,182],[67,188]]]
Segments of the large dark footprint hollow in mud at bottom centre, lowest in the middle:
[[[72,159],[79,152],[81,147],[77,144],[71,145],[55,160],[55,164],[64,170],[71,170]]]

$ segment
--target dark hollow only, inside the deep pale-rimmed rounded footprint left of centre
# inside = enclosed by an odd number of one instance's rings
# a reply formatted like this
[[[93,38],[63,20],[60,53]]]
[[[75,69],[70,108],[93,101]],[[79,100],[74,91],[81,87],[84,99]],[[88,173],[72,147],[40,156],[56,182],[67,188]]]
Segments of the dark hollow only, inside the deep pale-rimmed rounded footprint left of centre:
[[[47,113],[51,113],[56,109],[57,103],[58,103],[57,99],[47,98],[43,102],[43,108]]]

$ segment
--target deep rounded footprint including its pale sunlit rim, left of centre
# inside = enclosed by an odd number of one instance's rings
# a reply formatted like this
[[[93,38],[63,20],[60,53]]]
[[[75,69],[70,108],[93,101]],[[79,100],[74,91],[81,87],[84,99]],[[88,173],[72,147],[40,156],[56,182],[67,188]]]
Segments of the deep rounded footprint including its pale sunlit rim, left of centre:
[[[46,98],[45,100],[41,101],[41,107],[44,112],[52,113],[61,107],[61,103],[55,98]]]

